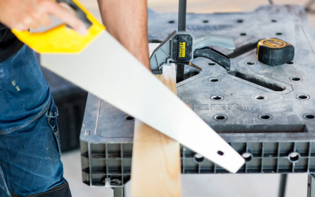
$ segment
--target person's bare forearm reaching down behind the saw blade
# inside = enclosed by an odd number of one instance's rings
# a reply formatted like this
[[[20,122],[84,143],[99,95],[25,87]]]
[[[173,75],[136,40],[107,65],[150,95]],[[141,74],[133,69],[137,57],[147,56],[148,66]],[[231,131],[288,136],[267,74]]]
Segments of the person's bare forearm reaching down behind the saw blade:
[[[98,0],[106,30],[150,69],[147,0]]]

